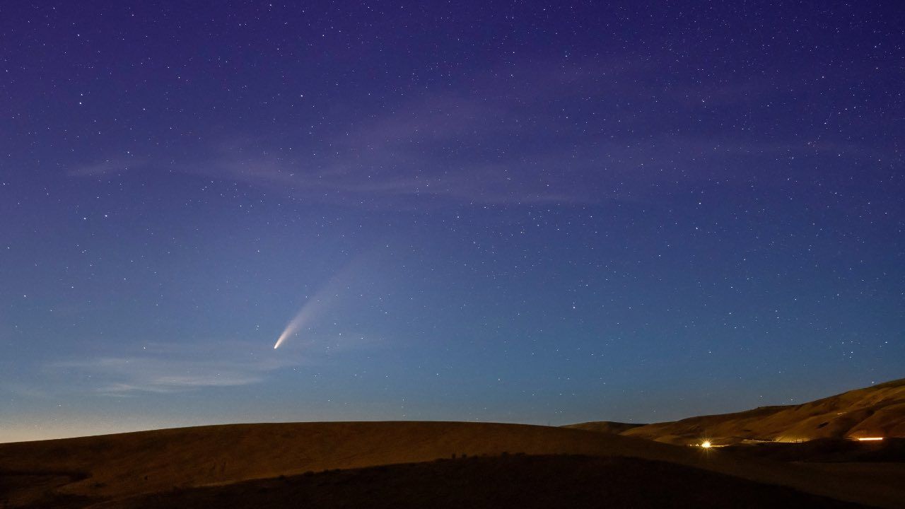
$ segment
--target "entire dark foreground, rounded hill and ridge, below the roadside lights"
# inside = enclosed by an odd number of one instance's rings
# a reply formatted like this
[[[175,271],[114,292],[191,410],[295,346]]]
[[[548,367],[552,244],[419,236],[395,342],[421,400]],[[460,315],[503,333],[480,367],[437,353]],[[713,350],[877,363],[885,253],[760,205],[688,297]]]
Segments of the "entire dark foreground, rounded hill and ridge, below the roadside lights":
[[[0,445],[0,507],[898,509],[901,452],[897,439],[702,449],[491,423],[188,427]]]

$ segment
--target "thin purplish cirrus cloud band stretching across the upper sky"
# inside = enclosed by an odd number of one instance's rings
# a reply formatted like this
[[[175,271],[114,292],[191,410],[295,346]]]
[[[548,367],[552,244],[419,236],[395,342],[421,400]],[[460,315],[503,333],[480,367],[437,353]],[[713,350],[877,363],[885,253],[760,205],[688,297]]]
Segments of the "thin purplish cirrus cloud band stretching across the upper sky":
[[[464,90],[438,85],[376,111],[324,111],[327,121],[313,137],[291,127],[254,137],[238,133],[196,147],[204,155],[194,160],[110,159],[70,173],[166,168],[348,206],[582,204],[637,199],[658,182],[724,172],[727,162],[814,154],[814,140],[788,139],[777,147],[776,139],[708,132],[691,120],[713,116],[707,110],[713,101],[719,115],[744,116],[759,101],[775,99],[776,82],[751,77],[664,87],[653,79],[658,72],[640,58],[518,62],[474,73]],[[587,109],[565,110],[565,97],[585,99]],[[733,113],[734,105],[744,108]],[[839,149],[833,140],[820,144]]]

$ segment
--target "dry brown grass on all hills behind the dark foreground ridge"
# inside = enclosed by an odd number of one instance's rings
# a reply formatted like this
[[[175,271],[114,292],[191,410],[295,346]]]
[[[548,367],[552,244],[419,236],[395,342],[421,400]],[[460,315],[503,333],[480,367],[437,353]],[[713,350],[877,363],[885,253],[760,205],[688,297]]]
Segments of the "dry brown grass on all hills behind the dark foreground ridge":
[[[730,449],[703,450],[656,440],[687,444],[701,437],[718,443],[740,437],[890,437],[905,435],[903,408],[905,380],[897,380],[795,407],[757,408],[641,427],[620,423],[585,423],[574,428],[462,422],[241,424],[0,444],[0,506],[78,507],[86,501],[115,501],[305,472],[520,453],[595,456],[601,461],[634,458],[669,464],[678,469],[675,472],[699,468],[812,495],[901,507],[905,471],[894,463],[900,461],[898,449],[865,456],[860,450],[827,450],[816,443],[795,450],[767,447],[733,454]],[[619,431],[621,435],[616,434]],[[833,461],[885,458],[887,463],[846,468],[788,462],[821,455]],[[664,475],[671,475],[672,470],[662,468]],[[652,481],[652,489],[670,485],[673,480],[667,477]]]

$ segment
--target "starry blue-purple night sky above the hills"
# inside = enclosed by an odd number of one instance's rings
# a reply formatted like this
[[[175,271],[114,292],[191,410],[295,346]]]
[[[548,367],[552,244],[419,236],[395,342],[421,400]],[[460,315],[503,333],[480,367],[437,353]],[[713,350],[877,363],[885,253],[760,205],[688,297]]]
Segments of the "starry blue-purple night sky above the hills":
[[[652,422],[901,378],[903,27],[3,3],[0,441]]]

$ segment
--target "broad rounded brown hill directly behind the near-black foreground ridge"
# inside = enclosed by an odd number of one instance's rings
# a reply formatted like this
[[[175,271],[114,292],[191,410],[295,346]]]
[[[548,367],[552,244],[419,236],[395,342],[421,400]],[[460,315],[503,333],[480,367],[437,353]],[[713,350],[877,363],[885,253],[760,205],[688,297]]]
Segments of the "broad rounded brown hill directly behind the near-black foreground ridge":
[[[10,507],[81,507],[174,489],[328,469],[515,455],[633,457],[691,466],[839,500],[899,507],[905,483],[740,458],[637,437],[562,427],[460,422],[247,424],[162,429],[0,445],[0,500]],[[663,483],[669,480],[664,479]],[[6,487],[4,487],[4,484]],[[81,505],[80,505],[81,504]]]

